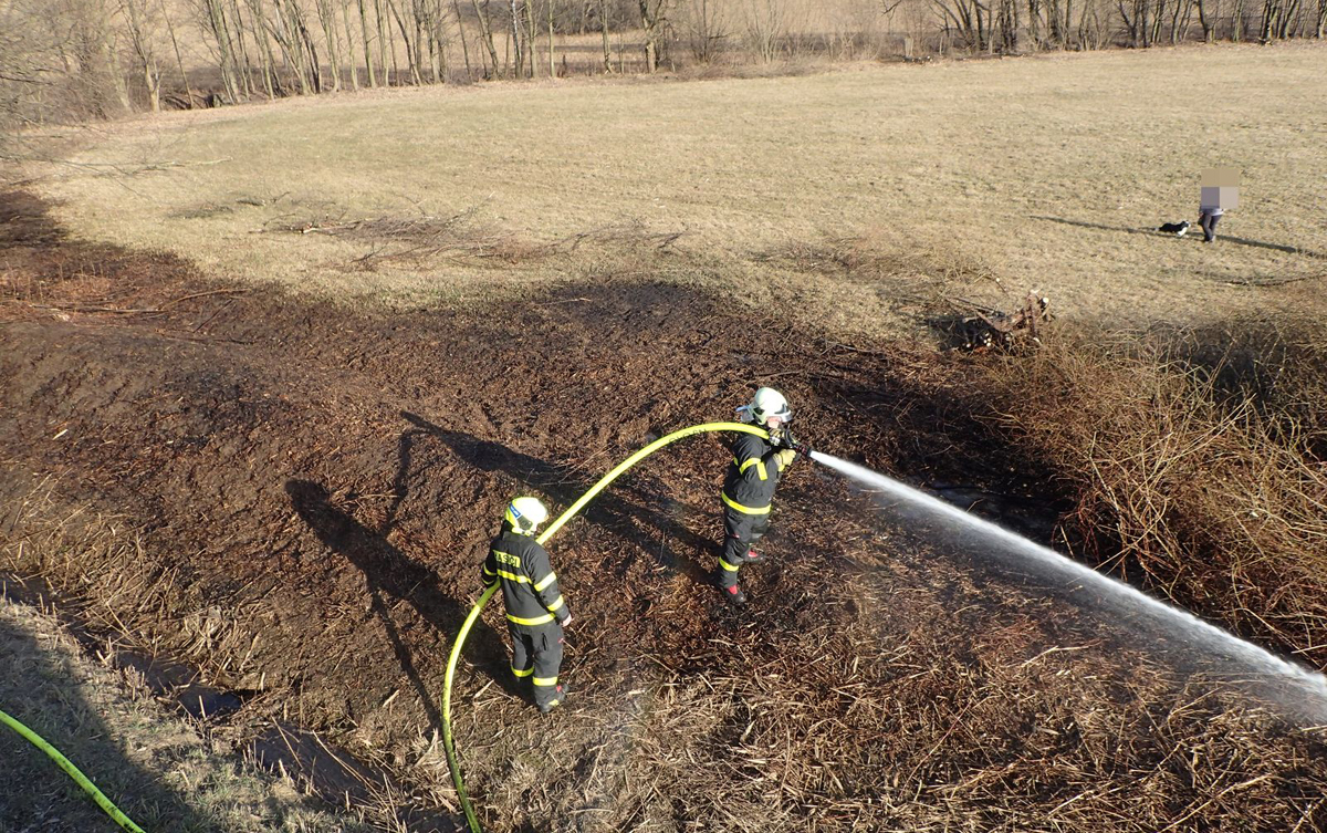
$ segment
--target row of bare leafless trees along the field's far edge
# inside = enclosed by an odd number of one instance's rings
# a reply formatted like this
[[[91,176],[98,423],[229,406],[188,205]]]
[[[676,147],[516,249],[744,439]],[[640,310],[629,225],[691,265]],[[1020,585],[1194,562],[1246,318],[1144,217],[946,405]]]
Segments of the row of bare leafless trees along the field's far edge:
[[[1324,28],[1327,0],[0,0],[0,119],[914,48],[1320,38]]]

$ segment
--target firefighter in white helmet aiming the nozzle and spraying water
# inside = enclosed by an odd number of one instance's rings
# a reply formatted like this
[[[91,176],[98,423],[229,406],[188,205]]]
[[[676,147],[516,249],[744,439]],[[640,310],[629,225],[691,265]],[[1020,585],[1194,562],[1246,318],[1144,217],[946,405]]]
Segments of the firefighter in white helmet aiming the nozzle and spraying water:
[[[798,458],[788,432],[792,411],[788,401],[772,387],[755,391],[750,405],[738,409],[742,422],[752,422],[770,432],[770,439],[755,434],[738,434],[733,440],[733,463],[723,480],[723,553],[715,572],[715,584],[723,598],[733,605],[746,604],[746,593],[738,586],[738,570],[743,564],[760,561],[754,549],[770,529],[770,507],[779,479]]]

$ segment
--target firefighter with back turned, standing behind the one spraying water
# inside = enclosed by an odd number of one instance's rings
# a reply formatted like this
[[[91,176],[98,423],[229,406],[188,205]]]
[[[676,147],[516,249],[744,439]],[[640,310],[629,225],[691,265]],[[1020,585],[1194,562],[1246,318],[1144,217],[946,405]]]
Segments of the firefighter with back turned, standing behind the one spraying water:
[[[537,499],[512,500],[502,532],[488,546],[483,581],[486,586],[502,582],[511,673],[518,682],[531,678],[535,706],[547,715],[567,699],[557,670],[563,665],[563,629],[572,623],[572,614],[557,589],[548,550],[535,541],[535,531],[545,520],[548,509]]]

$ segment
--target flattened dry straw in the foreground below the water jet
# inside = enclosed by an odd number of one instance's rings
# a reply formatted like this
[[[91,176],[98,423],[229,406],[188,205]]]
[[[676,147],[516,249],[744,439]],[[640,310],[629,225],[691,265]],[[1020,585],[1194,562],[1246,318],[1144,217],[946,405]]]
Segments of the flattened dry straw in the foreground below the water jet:
[[[997,585],[946,604],[916,592],[954,578],[936,569],[942,553],[922,556],[924,578],[908,556],[878,554],[888,566],[837,588],[787,564],[815,621],[762,613],[758,627],[645,655],[596,679],[555,731],[487,687],[464,695],[458,731],[486,824],[1154,833],[1323,820],[1320,728],[1177,679],[1109,625],[1043,650],[1046,609]]]

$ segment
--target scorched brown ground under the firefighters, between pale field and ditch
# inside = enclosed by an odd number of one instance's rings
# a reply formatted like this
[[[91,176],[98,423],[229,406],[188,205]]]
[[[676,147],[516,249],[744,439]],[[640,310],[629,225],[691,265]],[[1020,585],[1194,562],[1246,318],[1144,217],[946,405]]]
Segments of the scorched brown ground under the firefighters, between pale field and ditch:
[[[437,702],[512,493],[567,505],[752,383],[868,466],[1006,493],[1035,478],[965,415],[947,359],[675,287],[393,314],[69,243],[24,195],[0,198],[0,501],[7,540],[28,541],[11,560],[244,692],[249,719],[394,767],[430,806],[455,809]],[[494,829],[1026,828],[1075,789],[1063,829],[1320,812],[1299,800],[1327,783],[1320,740],[1143,662],[1028,665],[1064,638],[1054,609],[892,553],[823,511],[853,499],[809,468],[780,493],[779,562],[744,574],[754,610],[722,609],[705,577],[725,462],[691,442],[556,540],[584,692],[560,723],[511,695],[504,637],[479,629],[456,732]],[[73,549],[74,528],[97,546]],[[1190,747],[1242,763],[1200,773]],[[1125,812],[1131,783],[1154,783],[1148,812]]]

